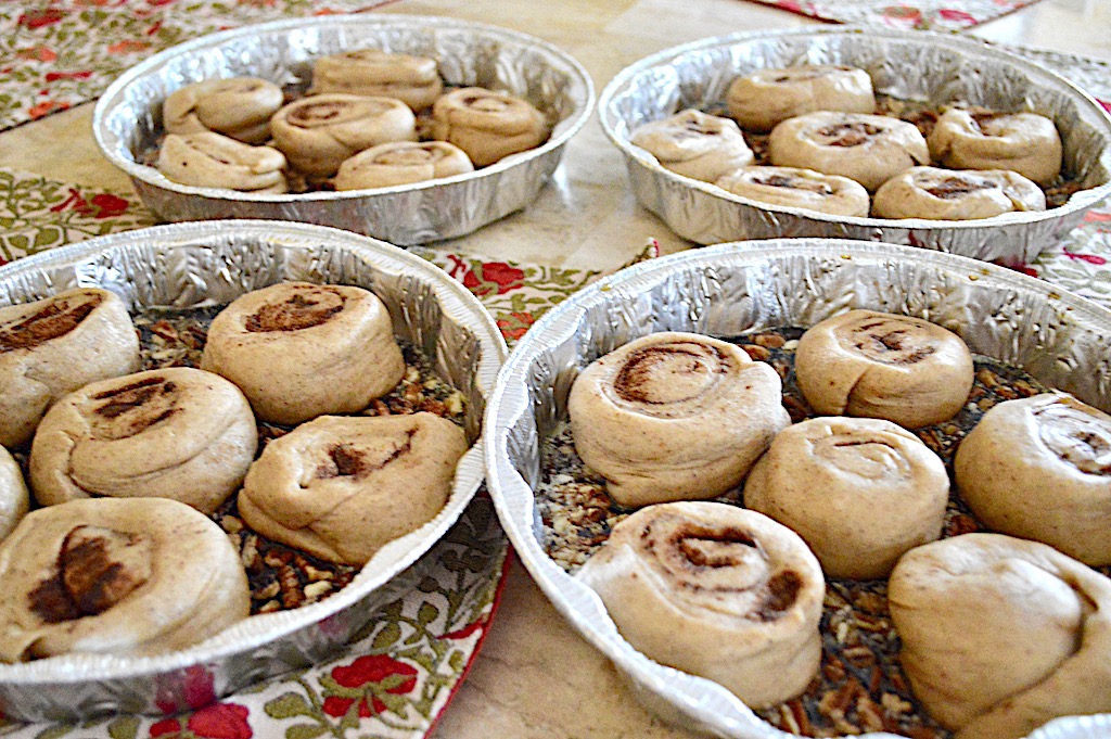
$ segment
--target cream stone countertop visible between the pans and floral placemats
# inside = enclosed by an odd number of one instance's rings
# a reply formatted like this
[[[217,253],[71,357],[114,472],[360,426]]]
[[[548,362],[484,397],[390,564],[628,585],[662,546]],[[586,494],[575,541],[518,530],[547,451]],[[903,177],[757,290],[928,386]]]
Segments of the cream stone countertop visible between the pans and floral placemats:
[[[573,54],[600,92],[623,67],[661,49],[733,31],[818,24],[743,0],[400,0],[380,12],[478,20],[541,37]],[[1111,3],[1042,0],[978,27],[974,34],[1111,60]],[[0,136],[0,164],[59,180],[130,191],[90,133],[92,103]],[[539,200],[452,251],[590,269],[614,269],[649,237],[664,252],[691,244],[633,200],[624,166],[593,119],[567,147]],[[436,244],[433,244],[436,246]],[[563,621],[519,562],[470,676],[436,739],[691,737],[637,705],[622,678]]]

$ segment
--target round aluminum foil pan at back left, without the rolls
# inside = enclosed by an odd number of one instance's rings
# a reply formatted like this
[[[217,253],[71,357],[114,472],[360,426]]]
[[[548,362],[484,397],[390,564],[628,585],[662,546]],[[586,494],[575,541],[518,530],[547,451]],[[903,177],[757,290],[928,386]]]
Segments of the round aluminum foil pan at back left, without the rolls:
[[[279,86],[311,79],[312,60],[381,48],[433,57],[450,84],[508,90],[554,128],[541,147],[477,172],[377,190],[248,194],[166,179],[142,163],[161,129],[162,101],[191,82],[261,77]],[[536,199],[594,104],[590,76],[564,51],[524,33],[450,18],[323,16],[213,33],[154,54],[97,102],[97,144],[131,176],[147,207],[167,221],[267,218],[320,223],[409,246],[470,233]]]

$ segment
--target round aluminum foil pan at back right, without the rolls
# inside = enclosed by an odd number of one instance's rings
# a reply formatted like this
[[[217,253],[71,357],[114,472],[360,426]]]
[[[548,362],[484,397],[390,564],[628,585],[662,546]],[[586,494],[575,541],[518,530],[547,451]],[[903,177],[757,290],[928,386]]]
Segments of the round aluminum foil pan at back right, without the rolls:
[[[868,71],[877,93],[932,104],[963,101],[1053,119],[1064,167],[1083,190],[1044,212],[973,221],[825,216],[741,198],[671,172],[629,133],[684,108],[721,104],[738,74],[797,64]],[[637,199],[698,243],[829,237],[905,243],[1007,264],[1032,261],[1111,194],[1111,118],[1089,94],[1033,62],[967,36],[861,29],[738,33],[704,39],[625,68],[599,99],[602,128],[625,157]]]

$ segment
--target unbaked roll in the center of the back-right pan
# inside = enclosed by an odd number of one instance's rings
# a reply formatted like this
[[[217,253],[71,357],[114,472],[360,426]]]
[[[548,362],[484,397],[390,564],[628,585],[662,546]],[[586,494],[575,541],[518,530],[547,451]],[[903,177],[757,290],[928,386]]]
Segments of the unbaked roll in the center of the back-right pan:
[[[768,151],[778,167],[840,174],[869,191],[930,162],[925,139],[913,123],[860,113],[821,111],[785,120],[771,132]]]

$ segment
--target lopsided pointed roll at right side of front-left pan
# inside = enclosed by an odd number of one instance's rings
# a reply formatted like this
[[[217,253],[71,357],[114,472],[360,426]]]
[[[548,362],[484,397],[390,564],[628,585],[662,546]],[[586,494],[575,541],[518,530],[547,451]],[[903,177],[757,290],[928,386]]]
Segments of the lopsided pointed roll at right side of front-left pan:
[[[324,416],[267,445],[239,512],[274,541],[362,566],[436,518],[466,451],[462,429],[432,413]]]

